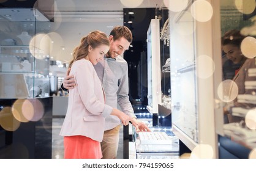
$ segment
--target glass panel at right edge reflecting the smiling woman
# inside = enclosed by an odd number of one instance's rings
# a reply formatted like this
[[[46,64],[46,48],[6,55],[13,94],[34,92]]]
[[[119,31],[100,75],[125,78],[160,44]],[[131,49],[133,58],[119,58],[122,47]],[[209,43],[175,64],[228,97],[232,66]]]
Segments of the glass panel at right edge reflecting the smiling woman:
[[[248,148],[256,147],[255,1],[220,1],[222,31],[224,134]],[[220,52],[221,53],[221,52]],[[232,83],[232,81],[234,83]],[[228,85],[225,87],[225,85]],[[237,90],[233,90],[233,88]],[[238,92],[224,99],[225,90]]]

